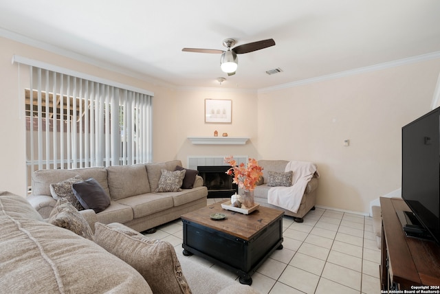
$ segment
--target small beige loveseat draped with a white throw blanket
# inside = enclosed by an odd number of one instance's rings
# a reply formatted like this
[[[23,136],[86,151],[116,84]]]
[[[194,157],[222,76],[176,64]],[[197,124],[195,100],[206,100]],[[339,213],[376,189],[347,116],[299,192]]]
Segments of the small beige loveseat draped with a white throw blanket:
[[[303,195],[303,198],[301,199],[300,207],[298,209],[298,212],[295,213],[267,203],[267,192],[270,190],[270,188],[272,188],[267,185],[268,172],[285,172],[285,167],[287,166],[287,163],[289,163],[289,161],[261,159],[258,162],[259,166],[263,167],[263,181],[260,181],[259,185],[256,185],[256,188],[254,190],[255,202],[263,206],[281,209],[285,212],[285,215],[293,216],[296,222],[303,222],[303,217],[307,214],[307,212],[315,209],[316,189],[318,188],[319,177],[318,172],[316,172],[316,174],[314,174],[314,177],[312,177],[309,183],[307,183],[305,193]]]

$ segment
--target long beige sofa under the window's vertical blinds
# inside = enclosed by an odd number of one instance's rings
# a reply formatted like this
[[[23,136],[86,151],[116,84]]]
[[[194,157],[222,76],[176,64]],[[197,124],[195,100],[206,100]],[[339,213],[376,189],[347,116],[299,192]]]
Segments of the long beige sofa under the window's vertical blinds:
[[[56,203],[50,184],[78,175],[84,180],[93,178],[100,183],[111,201],[109,207],[91,217],[100,223],[122,223],[136,231],[145,231],[207,205],[208,190],[198,175],[190,189],[155,192],[159,186],[161,170],[173,171],[176,166],[181,166],[181,161],[107,168],[38,170],[32,174],[32,194],[28,196],[28,201],[43,218],[48,218]],[[83,210],[81,213],[95,214],[94,210]]]

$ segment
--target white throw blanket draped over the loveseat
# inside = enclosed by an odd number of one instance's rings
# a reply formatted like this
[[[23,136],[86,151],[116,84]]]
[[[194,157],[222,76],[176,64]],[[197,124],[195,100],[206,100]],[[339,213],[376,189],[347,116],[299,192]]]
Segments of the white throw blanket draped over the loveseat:
[[[303,199],[307,183],[311,178],[319,177],[318,170],[314,163],[308,161],[289,161],[285,172],[292,170],[292,185],[290,187],[272,187],[267,192],[267,203],[282,207],[291,212],[298,212]]]

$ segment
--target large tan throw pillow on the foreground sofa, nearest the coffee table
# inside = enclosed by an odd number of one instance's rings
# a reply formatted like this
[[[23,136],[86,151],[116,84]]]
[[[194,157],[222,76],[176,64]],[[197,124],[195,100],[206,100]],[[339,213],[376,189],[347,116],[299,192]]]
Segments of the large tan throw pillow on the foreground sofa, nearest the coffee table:
[[[141,273],[153,293],[191,293],[169,242],[148,238],[120,224],[102,223],[95,225],[95,242]]]

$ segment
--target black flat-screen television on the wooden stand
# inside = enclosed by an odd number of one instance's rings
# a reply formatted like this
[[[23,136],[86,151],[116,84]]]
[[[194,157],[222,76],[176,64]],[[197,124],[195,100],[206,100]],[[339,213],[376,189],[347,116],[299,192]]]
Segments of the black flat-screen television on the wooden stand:
[[[440,244],[440,107],[401,129],[401,197],[408,236],[432,238]],[[414,234],[413,234],[414,233]]]

